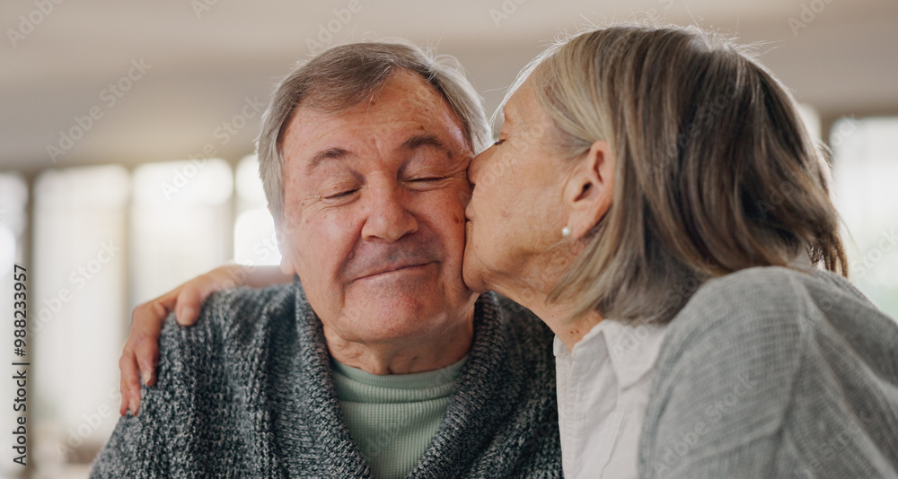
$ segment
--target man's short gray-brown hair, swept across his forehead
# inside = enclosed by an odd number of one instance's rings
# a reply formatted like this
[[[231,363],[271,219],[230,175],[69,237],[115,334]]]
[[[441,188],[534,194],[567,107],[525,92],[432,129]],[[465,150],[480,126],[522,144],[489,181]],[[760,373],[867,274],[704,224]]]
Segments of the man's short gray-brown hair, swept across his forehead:
[[[435,57],[405,42],[353,43],[330,48],[295,70],[277,85],[259,135],[259,173],[275,222],[284,214],[281,143],[295,110],[303,105],[325,113],[352,109],[380,88],[397,71],[421,75],[434,85],[462,120],[468,147],[486,149],[489,124],[483,104],[453,57]]]

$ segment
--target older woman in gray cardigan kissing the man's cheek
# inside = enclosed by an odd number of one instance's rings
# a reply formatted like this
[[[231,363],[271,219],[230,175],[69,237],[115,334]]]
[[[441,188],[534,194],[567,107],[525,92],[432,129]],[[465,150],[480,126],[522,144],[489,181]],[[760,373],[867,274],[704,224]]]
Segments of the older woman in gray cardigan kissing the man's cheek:
[[[839,274],[827,166],[768,71],[697,29],[613,26],[534,60],[503,110],[463,274],[557,335],[566,476],[898,475],[898,327]]]

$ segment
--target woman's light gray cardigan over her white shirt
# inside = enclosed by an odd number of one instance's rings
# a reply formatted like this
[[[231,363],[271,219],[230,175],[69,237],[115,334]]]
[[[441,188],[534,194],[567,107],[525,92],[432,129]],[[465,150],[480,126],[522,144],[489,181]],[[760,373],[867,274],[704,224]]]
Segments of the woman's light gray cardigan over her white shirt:
[[[898,477],[898,326],[841,276],[728,274],[666,335],[641,477]]]

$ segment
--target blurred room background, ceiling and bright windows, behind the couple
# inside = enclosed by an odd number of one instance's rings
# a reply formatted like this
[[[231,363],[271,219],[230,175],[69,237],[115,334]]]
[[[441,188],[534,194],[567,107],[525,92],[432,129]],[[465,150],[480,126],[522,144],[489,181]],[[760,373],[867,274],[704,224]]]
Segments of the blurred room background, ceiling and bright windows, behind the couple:
[[[8,1],[0,357],[30,366],[24,415],[10,407],[22,391],[0,379],[10,403],[0,477],[86,477],[119,417],[118,358],[136,304],[226,262],[277,264],[251,153],[269,92],[297,60],[335,43],[409,39],[457,57],[491,112],[560,33],[647,18],[757,44],[832,150],[852,281],[898,316],[894,0]],[[14,264],[29,279],[23,357]],[[22,415],[27,466],[10,447]]]

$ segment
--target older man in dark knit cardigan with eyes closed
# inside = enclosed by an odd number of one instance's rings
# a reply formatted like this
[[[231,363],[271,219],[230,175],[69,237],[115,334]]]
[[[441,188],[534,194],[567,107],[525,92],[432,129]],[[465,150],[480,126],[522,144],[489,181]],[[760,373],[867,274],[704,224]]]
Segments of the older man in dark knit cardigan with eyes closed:
[[[487,135],[470,83],[418,48],[333,48],[290,74],[259,156],[299,282],[170,319],[92,477],[560,477],[549,330],[462,283]]]

